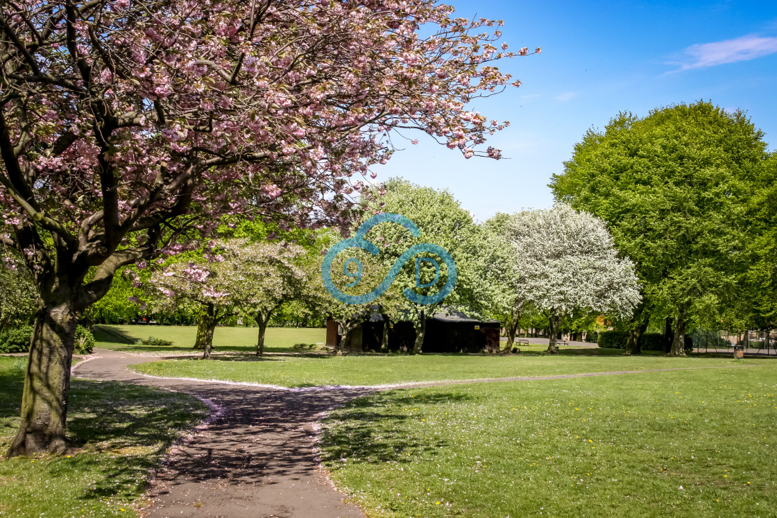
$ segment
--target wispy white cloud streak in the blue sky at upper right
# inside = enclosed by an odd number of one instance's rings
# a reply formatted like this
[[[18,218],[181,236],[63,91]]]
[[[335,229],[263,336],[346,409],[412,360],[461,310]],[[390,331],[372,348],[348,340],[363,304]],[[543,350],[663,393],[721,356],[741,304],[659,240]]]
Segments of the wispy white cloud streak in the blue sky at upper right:
[[[733,40],[697,43],[685,49],[685,59],[680,61],[680,70],[714,67],[718,64],[747,61],[777,52],[777,38],[754,35]]]

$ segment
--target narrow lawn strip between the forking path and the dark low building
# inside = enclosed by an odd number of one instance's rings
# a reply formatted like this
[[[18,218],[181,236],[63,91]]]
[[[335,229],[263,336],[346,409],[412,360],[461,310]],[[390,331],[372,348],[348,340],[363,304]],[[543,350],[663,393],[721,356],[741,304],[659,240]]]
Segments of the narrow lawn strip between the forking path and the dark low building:
[[[358,356],[220,356],[162,360],[133,368],[142,374],[247,381],[283,387],[377,385],[408,381],[469,380],[484,377],[548,376],[610,370],[707,367],[735,363],[733,359],[622,356],[620,349],[566,349],[559,356],[430,354]],[[584,356],[586,354],[587,356]],[[749,361],[749,360],[748,360]],[[745,367],[747,368],[747,367]]]

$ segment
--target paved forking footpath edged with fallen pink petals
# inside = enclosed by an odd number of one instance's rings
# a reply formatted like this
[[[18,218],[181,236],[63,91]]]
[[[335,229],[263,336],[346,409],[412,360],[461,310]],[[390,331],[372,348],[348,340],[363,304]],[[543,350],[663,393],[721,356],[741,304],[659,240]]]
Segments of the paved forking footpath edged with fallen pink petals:
[[[200,432],[176,447],[149,492],[152,505],[142,516],[208,518],[364,518],[343,502],[319,471],[313,450],[313,425],[322,412],[376,388],[277,390],[241,384],[146,377],[127,370],[135,363],[160,360],[96,349],[96,358],[79,363],[74,377],[166,388],[204,398],[221,412]],[[749,367],[747,365],[733,367]],[[402,384],[402,388],[484,381],[559,380],[572,377],[638,374],[679,369],[619,370],[542,377]],[[392,387],[397,387],[393,385]]]

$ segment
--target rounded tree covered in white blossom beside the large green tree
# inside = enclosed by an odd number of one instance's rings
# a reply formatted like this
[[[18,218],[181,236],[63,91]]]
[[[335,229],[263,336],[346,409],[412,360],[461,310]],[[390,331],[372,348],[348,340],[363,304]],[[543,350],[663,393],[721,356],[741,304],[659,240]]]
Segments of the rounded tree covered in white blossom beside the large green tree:
[[[549,353],[557,353],[559,323],[576,309],[625,318],[639,304],[630,259],[618,257],[605,222],[557,204],[514,214],[507,226],[514,266],[527,301],[549,320]]]

